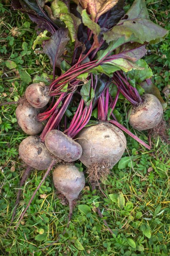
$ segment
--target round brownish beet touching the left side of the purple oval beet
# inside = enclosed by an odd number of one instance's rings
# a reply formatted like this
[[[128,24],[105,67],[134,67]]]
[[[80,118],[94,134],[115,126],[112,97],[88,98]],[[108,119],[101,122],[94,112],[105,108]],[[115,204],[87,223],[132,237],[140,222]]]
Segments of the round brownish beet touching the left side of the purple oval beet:
[[[36,136],[29,136],[20,143],[19,155],[27,165],[37,170],[46,170],[53,160],[51,153]]]

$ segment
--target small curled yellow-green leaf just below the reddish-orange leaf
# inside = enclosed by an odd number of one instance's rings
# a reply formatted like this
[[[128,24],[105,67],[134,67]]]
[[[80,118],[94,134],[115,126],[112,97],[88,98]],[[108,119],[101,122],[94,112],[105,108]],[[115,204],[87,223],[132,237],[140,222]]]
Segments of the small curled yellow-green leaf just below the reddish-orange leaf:
[[[90,28],[90,30],[93,31],[93,33],[95,35],[99,35],[99,33],[100,33],[100,26],[90,19],[90,17],[87,14],[86,10],[82,10],[81,17],[82,17],[82,23],[85,26],[87,26],[88,28]]]

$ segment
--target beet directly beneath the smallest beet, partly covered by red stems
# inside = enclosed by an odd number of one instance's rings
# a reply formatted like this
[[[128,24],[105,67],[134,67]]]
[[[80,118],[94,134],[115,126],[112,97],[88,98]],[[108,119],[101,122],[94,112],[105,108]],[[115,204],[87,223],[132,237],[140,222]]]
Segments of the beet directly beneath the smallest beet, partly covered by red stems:
[[[46,122],[39,122],[37,114],[42,113],[46,108],[34,108],[26,99],[20,101],[16,108],[16,119],[21,129],[29,135],[37,135],[44,129]]]

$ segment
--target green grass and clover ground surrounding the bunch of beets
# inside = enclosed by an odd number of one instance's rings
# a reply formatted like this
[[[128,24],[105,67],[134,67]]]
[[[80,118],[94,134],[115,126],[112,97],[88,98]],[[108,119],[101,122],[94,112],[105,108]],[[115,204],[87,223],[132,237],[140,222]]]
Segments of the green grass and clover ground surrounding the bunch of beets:
[[[167,1],[146,2],[151,17],[156,17],[158,23],[168,28]],[[37,55],[32,49],[36,31],[28,17],[14,12],[9,1],[0,4],[0,14],[0,97],[1,102],[16,102],[33,77],[43,72],[50,75],[51,67],[41,49],[36,50]],[[167,38],[158,45],[149,46],[150,52],[145,58],[152,66],[153,81],[160,91],[169,82],[169,48]],[[162,96],[168,100],[168,95]],[[22,188],[15,223],[5,237],[19,179],[25,168],[18,156],[18,145],[26,135],[18,127],[15,108],[15,104],[5,105],[0,110],[0,255],[170,254],[169,152],[168,145],[156,134],[152,136],[151,151],[127,137],[128,151],[101,184],[105,196],[99,189],[92,193],[87,182],[77,201],[69,229],[66,228],[69,208],[56,194],[51,174],[39,189],[18,230],[14,230],[44,174],[44,171],[33,170]],[[124,109],[123,104],[121,108]],[[165,120],[169,117],[170,111],[166,110]],[[147,132],[137,132],[137,135],[147,141]],[[103,219],[96,213],[97,207],[103,213]],[[103,220],[107,220],[113,235]],[[62,235],[65,229],[66,233]],[[44,249],[58,237],[57,243]]]

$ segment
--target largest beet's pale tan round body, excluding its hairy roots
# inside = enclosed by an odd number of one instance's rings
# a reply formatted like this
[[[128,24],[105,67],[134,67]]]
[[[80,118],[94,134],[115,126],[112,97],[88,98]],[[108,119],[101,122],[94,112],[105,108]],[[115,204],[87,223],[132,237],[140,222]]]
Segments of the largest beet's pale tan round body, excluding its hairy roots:
[[[105,162],[112,168],[126,149],[126,137],[123,132],[107,122],[83,128],[77,138],[82,147],[80,161],[86,167]]]

